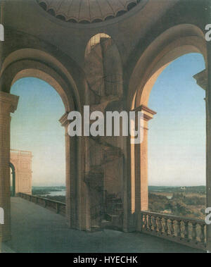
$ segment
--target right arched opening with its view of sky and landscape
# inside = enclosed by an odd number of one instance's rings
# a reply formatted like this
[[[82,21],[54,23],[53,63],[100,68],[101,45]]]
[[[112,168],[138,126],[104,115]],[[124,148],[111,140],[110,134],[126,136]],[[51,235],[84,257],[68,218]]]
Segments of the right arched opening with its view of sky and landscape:
[[[148,210],[205,218],[205,90],[193,76],[205,69],[201,54],[170,63],[153,85],[148,106]]]

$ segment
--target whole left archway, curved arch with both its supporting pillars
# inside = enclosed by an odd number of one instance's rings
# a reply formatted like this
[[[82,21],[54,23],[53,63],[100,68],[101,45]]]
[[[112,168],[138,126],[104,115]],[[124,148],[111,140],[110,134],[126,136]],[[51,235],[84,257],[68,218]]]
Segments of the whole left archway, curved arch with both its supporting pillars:
[[[18,106],[18,97],[10,94],[10,91],[12,85],[23,77],[37,77],[44,80],[56,89],[60,98],[63,100],[65,114],[60,118],[60,123],[65,127],[66,218],[71,228],[86,228],[86,220],[83,221],[81,217],[82,213],[80,211],[82,204],[78,188],[81,182],[79,172],[81,164],[79,161],[80,142],[79,139],[71,139],[68,136],[68,113],[70,110],[79,109],[79,94],[69,71],[56,58],[43,51],[35,49],[20,49],[20,51],[15,51],[6,58],[3,68],[1,68],[1,101],[4,101],[6,105],[4,110],[1,109],[1,112],[4,111],[4,116],[6,116],[5,123],[2,125],[2,134],[8,137],[6,142],[4,142],[5,149],[1,151],[1,156],[5,158],[5,153],[7,153],[8,161],[10,161],[8,150],[10,149],[10,113],[14,112]],[[5,167],[5,170],[5,175],[6,177],[8,176],[8,179],[6,179],[8,183],[4,185],[4,192],[6,193],[6,190],[10,191],[9,166]],[[11,211],[8,196],[9,194],[3,195],[1,199],[1,206],[6,211],[6,223],[1,227],[1,231],[4,233],[2,240],[9,240],[11,238]],[[84,223],[83,226],[81,224],[82,221]]]

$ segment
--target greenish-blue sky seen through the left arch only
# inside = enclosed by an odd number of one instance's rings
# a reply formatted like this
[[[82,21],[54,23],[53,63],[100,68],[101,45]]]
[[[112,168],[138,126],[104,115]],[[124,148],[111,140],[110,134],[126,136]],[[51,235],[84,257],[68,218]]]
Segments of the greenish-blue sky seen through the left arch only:
[[[53,87],[33,77],[15,82],[20,96],[11,121],[11,148],[32,151],[32,184],[65,185],[65,130],[58,120],[65,113]]]

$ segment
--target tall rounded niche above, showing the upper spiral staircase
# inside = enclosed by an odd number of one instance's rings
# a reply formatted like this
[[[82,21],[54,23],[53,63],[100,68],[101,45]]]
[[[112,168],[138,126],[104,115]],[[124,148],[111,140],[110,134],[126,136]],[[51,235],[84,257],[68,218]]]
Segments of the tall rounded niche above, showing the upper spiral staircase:
[[[89,89],[98,97],[122,95],[122,59],[112,37],[99,32],[89,39],[84,72]]]

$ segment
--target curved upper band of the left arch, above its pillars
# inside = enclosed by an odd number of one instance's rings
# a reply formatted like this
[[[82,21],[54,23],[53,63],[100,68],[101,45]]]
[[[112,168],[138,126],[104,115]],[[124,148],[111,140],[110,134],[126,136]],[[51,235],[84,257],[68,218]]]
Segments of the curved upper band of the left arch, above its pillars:
[[[10,92],[13,83],[20,78],[37,77],[56,89],[63,100],[65,111],[79,110],[79,91],[70,71],[45,51],[18,49],[9,54],[2,64],[1,89]]]

